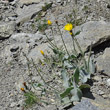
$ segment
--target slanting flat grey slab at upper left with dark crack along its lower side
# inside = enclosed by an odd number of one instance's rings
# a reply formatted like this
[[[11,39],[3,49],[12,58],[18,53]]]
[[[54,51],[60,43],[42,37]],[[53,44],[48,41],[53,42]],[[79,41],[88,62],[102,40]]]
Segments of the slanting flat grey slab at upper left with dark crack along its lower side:
[[[22,8],[19,6],[16,9],[16,13],[18,15],[18,18],[16,20],[17,24],[22,24],[25,21],[28,21],[30,19],[32,19],[33,17],[35,17],[38,12],[40,12],[42,10],[42,7],[45,6],[45,2],[40,2],[41,0],[21,0],[19,1],[22,4],[31,4],[31,5],[26,5],[23,6]],[[40,3],[39,3],[40,2]],[[32,4],[32,3],[37,3],[37,4]],[[46,3],[51,3],[49,1],[47,1]]]

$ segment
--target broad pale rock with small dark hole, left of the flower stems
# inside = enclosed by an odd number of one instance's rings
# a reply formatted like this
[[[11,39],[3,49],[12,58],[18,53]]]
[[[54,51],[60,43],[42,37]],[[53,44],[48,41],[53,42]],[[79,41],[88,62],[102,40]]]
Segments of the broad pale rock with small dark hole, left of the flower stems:
[[[27,33],[18,33],[10,37],[10,44],[6,46],[0,53],[0,57],[6,60],[6,63],[11,62],[14,59],[18,59],[23,64],[26,64],[27,60],[23,56],[22,52],[29,57],[33,58],[35,61],[38,61],[39,58],[43,58],[40,53],[40,50],[47,48],[48,44],[40,44],[40,42],[45,41],[46,37],[42,34],[27,34]],[[45,52],[46,53],[46,52]]]

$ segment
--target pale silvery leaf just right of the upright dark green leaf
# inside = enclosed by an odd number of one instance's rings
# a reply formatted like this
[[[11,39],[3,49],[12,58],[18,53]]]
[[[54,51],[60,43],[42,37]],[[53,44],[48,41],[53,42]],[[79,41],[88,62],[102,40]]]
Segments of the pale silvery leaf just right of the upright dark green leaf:
[[[80,78],[83,83],[87,82],[90,79],[90,73],[88,73],[85,69],[80,70]]]

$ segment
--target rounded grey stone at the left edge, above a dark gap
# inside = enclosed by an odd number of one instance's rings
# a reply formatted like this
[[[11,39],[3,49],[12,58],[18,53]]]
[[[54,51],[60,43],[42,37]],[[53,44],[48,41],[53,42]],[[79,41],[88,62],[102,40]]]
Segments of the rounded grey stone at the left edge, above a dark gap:
[[[15,22],[1,23],[0,24],[0,39],[6,39],[10,37],[16,29]]]

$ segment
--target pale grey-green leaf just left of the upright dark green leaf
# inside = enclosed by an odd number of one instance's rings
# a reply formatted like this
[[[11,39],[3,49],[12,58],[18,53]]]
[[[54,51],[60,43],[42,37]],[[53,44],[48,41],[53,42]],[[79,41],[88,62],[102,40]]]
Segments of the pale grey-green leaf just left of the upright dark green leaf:
[[[69,88],[69,78],[67,76],[67,71],[66,70],[62,70],[61,74],[62,74],[62,78],[63,78],[63,86],[65,88]]]

